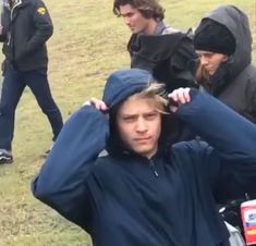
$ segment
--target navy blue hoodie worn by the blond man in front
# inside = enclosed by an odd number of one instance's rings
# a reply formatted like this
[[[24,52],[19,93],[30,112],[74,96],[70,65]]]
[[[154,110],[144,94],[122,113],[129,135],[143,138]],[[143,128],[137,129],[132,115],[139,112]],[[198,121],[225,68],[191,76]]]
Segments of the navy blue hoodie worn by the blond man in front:
[[[103,99],[112,108],[150,81],[146,71],[118,71]],[[229,245],[216,200],[232,197],[233,183],[236,192],[255,185],[256,126],[209,95],[192,89],[191,97],[176,116],[210,146],[179,143],[151,159],[113,150],[98,157],[112,139],[109,121],[85,106],[65,123],[33,194],[88,232],[95,246]]]

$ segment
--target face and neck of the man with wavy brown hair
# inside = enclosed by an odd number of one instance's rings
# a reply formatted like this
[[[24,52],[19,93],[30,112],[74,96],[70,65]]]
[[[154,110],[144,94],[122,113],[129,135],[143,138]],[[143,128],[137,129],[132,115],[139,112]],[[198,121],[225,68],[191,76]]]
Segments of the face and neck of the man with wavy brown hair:
[[[142,13],[131,4],[120,5],[120,14],[133,34],[144,33],[150,35],[154,33],[151,26],[156,21],[154,19],[144,17]]]

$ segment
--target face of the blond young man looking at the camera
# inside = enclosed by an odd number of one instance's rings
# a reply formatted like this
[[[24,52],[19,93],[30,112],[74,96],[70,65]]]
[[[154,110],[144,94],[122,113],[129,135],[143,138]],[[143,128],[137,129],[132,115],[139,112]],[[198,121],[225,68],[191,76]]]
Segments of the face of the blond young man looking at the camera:
[[[151,158],[158,149],[161,114],[154,99],[130,97],[118,110],[117,126],[124,145]]]

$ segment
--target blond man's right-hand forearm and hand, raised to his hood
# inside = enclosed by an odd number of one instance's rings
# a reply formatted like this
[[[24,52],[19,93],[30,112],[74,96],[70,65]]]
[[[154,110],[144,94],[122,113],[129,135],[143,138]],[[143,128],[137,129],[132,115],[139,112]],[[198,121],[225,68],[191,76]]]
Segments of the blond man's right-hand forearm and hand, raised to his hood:
[[[222,158],[256,162],[256,126],[210,95],[196,89],[188,100],[178,101],[176,115],[203,139],[216,148]]]

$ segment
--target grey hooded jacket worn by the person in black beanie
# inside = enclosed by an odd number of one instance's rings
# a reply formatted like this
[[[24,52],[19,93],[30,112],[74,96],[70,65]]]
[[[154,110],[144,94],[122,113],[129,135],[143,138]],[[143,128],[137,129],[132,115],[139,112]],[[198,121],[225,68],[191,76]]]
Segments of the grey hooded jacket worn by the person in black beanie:
[[[206,19],[224,25],[234,36],[236,48],[225,64],[228,79],[216,86],[218,91],[212,91],[207,85],[204,87],[222,102],[256,123],[256,67],[252,65],[252,35],[248,17],[233,5],[221,5]]]

